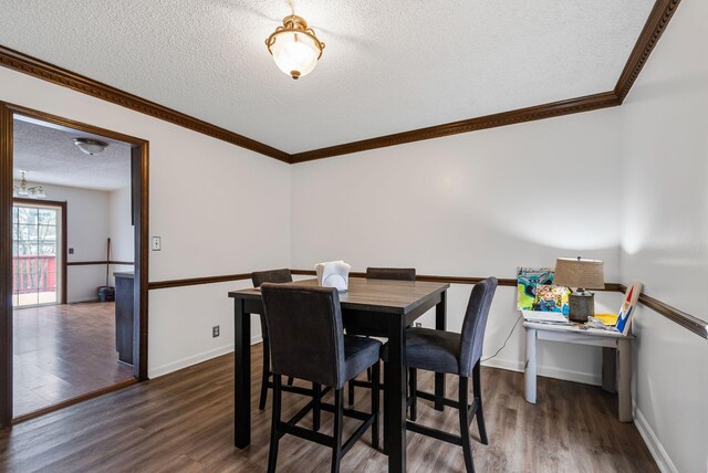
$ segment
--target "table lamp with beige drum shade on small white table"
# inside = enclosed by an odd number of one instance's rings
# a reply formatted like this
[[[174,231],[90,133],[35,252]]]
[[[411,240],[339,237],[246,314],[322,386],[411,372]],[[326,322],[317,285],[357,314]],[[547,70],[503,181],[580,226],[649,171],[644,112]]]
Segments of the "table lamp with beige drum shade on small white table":
[[[582,257],[559,257],[555,260],[553,284],[574,291],[569,299],[569,317],[573,322],[587,322],[595,315],[595,294],[587,290],[604,290],[603,262]]]

